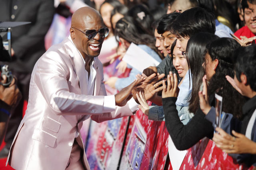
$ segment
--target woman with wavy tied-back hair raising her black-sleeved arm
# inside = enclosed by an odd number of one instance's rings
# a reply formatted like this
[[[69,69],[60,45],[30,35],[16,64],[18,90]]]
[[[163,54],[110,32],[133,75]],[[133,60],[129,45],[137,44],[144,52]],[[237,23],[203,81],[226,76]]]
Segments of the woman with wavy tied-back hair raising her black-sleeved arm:
[[[234,39],[216,39],[208,45],[208,52],[205,55],[203,64],[207,80],[209,81],[209,103],[214,106],[214,94],[218,93],[225,101],[223,102],[222,110],[226,113],[233,113],[236,117],[241,116],[240,106],[243,104],[243,97],[232,88],[226,81],[225,76],[234,75],[232,55],[239,47],[239,43]],[[187,47],[188,49],[189,46]],[[186,54],[186,57],[189,57],[189,54]],[[200,67],[199,63],[197,66]],[[194,117],[190,119],[188,124],[183,125],[178,117],[175,105],[178,96],[176,74],[173,76],[170,73],[167,82],[167,88],[165,83],[163,83],[162,102],[166,128],[172,137],[175,147],[178,150],[186,150],[204,137],[212,138],[214,132],[212,123],[205,119],[205,115],[200,108],[196,110]]]

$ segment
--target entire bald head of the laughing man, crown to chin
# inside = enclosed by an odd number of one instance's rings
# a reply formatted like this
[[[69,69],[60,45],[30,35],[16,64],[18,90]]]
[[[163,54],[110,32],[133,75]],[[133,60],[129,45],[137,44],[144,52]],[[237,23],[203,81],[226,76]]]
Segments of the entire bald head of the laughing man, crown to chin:
[[[82,7],[76,10],[72,16],[70,37],[80,51],[83,58],[92,59],[100,54],[104,36],[100,36],[98,30],[106,28],[100,13],[90,7]],[[97,31],[94,37],[88,39],[86,31]]]

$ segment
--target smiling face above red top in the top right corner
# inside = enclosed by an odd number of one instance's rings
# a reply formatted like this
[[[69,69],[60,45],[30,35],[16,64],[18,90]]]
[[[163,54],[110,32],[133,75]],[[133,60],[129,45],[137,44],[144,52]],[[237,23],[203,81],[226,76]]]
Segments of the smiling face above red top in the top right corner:
[[[256,33],[256,4],[251,4],[247,1],[248,7],[244,9],[244,21],[247,27],[252,31],[252,33]]]

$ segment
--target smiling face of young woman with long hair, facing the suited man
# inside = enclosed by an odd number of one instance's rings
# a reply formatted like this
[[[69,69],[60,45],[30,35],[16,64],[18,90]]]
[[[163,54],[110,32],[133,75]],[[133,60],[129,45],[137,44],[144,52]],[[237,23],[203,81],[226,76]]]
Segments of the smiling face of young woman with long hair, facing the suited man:
[[[181,78],[186,75],[188,71],[188,63],[187,60],[182,55],[181,51],[175,46],[173,50],[173,65],[175,69],[178,71],[178,74]]]

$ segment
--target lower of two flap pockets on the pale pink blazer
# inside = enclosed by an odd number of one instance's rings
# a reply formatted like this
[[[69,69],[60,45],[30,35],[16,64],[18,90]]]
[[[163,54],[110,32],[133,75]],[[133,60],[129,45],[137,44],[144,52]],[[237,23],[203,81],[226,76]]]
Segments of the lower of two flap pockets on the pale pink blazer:
[[[50,147],[54,147],[57,137],[47,133],[46,131],[35,129],[32,135],[32,139],[42,142]]]

